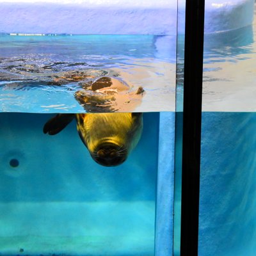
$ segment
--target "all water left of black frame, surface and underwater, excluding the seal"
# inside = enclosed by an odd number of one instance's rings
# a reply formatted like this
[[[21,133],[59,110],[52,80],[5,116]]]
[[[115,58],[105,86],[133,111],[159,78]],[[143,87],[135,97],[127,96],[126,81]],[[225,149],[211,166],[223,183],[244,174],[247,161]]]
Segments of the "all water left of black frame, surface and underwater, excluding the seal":
[[[166,250],[163,241],[170,252],[170,232],[156,220],[171,216],[166,200],[156,200],[157,170],[164,172],[156,111],[175,109],[176,38],[0,35],[0,41],[0,254],[150,256]],[[43,133],[51,113],[86,112],[74,97],[83,90],[80,81],[52,83],[68,72],[145,90],[131,110],[156,113],[143,114],[140,143],[124,164],[95,163],[75,122],[55,136]]]

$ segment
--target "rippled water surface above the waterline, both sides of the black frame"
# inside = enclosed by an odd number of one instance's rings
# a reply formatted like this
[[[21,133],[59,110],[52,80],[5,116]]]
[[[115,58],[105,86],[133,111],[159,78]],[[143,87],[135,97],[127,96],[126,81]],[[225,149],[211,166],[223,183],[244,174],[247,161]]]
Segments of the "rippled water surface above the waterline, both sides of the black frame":
[[[256,21],[246,28],[205,35],[204,111],[255,111],[255,30]],[[143,86],[146,94],[135,111],[174,111],[176,83],[177,109],[182,105],[182,36],[177,40],[177,67],[175,36],[0,35],[0,40],[1,111],[52,112],[58,109],[40,106],[63,104],[64,111],[84,112],[74,99],[74,92],[80,89],[76,83],[56,88],[45,86],[45,80],[40,79],[82,69],[110,70],[134,88]],[[29,69],[33,79],[29,79]],[[10,85],[10,76],[16,86]],[[27,87],[25,83],[17,86],[19,80],[28,81]],[[18,90],[26,90],[26,95],[18,93],[19,102],[17,97],[9,97]],[[36,97],[40,104],[33,100]]]

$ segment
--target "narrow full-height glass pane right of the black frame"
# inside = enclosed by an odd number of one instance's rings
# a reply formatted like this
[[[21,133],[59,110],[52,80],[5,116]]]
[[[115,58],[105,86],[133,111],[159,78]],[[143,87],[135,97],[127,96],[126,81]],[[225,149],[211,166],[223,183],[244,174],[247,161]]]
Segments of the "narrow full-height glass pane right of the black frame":
[[[207,256],[251,256],[256,250],[255,3],[206,2],[198,250]]]

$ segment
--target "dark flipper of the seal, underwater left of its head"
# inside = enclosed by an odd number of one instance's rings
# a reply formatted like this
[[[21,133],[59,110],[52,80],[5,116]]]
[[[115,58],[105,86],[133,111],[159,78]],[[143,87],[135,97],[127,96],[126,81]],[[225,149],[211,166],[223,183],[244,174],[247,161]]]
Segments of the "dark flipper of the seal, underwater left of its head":
[[[44,125],[44,133],[54,135],[62,131],[73,119],[74,114],[58,114]]]

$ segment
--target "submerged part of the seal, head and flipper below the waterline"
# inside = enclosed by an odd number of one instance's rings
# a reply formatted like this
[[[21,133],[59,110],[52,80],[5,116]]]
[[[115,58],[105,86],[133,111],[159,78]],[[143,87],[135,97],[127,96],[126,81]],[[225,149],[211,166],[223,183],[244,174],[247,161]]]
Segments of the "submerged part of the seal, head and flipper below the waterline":
[[[57,134],[75,117],[81,140],[103,166],[124,163],[143,129],[142,113],[58,114],[44,125],[44,133]]]

